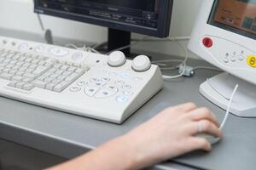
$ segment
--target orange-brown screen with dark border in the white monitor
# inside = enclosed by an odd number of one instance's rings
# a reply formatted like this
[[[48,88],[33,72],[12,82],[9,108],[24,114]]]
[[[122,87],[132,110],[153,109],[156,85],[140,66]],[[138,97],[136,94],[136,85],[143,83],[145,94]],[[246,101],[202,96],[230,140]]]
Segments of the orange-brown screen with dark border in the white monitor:
[[[208,23],[256,39],[256,0],[216,0]]]

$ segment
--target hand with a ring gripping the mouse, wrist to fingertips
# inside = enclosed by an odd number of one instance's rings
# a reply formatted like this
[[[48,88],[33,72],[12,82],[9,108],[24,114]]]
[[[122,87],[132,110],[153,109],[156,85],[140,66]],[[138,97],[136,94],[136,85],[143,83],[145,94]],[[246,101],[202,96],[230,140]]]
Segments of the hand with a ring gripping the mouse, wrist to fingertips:
[[[127,133],[121,139],[135,156],[134,169],[148,167],[192,150],[211,150],[211,144],[199,133],[221,137],[217,118],[207,108],[195,104],[177,105],[161,111],[148,122]]]

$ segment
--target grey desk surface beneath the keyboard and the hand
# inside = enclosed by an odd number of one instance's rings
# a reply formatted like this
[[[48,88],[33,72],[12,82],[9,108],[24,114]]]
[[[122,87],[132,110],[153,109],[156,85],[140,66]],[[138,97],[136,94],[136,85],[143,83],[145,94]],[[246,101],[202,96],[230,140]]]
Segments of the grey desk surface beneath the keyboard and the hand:
[[[192,65],[202,64],[205,65],[201,61],[192,62]],[[0,98],[0,137],[57,156],[71,158],[128,132],[167,106],[193,101],[198,106],[210,108],[221,122],[224,111],[198,93],[201,82],[216,73],[198,71],[195,77],[165,82],[163,90],[122,125]],[[224,139],[213,146],[212,152],[196,151],[153,168],[255,169],[255,130],[256,119],[230,116],[224,127]]]

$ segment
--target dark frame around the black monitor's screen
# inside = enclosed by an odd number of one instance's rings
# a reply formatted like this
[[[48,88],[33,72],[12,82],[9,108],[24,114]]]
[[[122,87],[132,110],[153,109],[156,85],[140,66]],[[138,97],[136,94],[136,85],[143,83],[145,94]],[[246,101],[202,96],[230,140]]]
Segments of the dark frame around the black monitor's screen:
[[[160,13],[157,29],[134,26],[123,23],[115,23],[112,20],[98,19],[87,15],[73,14],[65,11],[54,10],[49,8],[41,8],[39,4],[40,0],[34,0],[34,12],[38,14],[47,14],[55,17],[65,18],[68,20],[76,20],[96,26],[105,26],[111,29],[121,31],[131,31],[143,35],[154,37],[168,37],[172,19],[172,6],[173,0],[160,0]]]

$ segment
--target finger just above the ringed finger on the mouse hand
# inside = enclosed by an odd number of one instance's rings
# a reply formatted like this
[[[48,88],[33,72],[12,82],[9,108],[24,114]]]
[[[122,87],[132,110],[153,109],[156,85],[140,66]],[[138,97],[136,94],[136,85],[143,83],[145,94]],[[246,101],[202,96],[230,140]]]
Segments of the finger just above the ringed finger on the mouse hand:
[[[200,108],[194,111],[190,111],[189,118],[191,118],[191,120],[195,122],[198,122],[201,120],[208,120],[210,122],[213,122],[217,127],[219,127],[217,117],[214,114],[212,114],[212,111],[210,111],[207,108]]]

